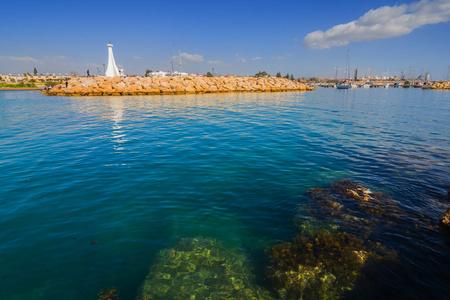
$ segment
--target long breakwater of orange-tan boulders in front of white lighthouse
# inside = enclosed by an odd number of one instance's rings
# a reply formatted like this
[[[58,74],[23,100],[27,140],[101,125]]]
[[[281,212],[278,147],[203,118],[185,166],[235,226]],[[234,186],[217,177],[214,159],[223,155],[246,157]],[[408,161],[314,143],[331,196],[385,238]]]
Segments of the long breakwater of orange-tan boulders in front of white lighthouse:
[[[82,77],[54,86],[49,96],[121,96],[226,92],[313,91],[284,78],[253,77]]]

